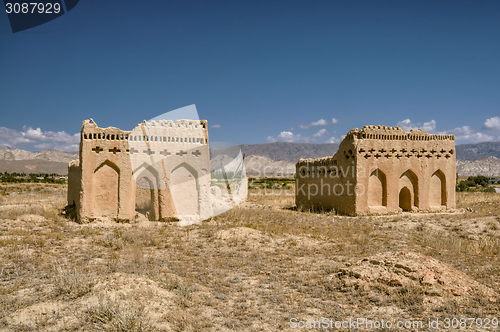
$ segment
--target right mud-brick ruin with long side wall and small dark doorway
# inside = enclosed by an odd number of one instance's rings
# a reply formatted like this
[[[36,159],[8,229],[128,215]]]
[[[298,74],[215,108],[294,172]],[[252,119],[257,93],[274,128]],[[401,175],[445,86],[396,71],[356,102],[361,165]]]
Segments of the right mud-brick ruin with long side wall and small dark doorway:
[[[455,207],[455,137],[365,126],[331,157],[296,165],[296,203],[340,214],[436,211]]]

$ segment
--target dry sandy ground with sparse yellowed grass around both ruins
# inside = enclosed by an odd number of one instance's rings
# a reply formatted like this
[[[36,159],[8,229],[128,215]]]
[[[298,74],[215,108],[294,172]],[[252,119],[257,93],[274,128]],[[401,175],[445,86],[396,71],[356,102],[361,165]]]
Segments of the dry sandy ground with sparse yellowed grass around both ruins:
[[[477,318],[468,331],[498,326],[500,194],[457,193],[447,213],[343,217],[251,190],[189,227],[81,225],[60,215],[65,198],[63,185],[0,187],[1,331],[282,331],[320,320],[332,325],[307,330],[343,331],[354,329],[334,323],[359,318],[386,324],[366,331],[445,330],[453,318]]]

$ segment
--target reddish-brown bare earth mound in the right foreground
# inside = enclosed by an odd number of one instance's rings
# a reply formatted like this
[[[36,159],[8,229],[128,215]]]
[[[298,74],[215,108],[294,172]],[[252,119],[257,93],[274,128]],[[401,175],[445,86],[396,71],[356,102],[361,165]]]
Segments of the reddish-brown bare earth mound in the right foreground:
[[[496,301],[498,294],[474,281],[466,274],[437,259],[415,252],[387,252],[363,258],[340,273],[354,278],[354,285],[374,281],[390,286],[423,286],[427,295],[442,296],[446,292],[456,296],[481,292]]]

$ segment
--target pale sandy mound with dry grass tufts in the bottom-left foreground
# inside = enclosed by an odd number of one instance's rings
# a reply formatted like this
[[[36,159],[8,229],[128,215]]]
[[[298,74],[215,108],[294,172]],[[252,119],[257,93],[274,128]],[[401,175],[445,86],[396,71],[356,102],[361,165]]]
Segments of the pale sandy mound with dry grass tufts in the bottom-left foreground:
[[[176,275],[166,274],[165,277],[164,282],[157,282],[143,276],[113,273],[97,282],[82,297],[67,299],[63,296],[39,302],[6,317],[6,322],[20,330],[49,324],[52,326],[48,331],[82,327],[88,330],[92,326],[101,330],[135,331],[141,330],[137,325],[141,322],[153,330],[169,330],[169,320],[175,321],[179,308],[186,305],[186,298],[202,302],[200,298],[206,299],[210,295],[204,287],[188,285]],[[25,290],[29,291],[32,290]],[[201,319],[208,319],[211,311],[210,308],[200,311]],[[132,325],[134,328],[127,329]]]

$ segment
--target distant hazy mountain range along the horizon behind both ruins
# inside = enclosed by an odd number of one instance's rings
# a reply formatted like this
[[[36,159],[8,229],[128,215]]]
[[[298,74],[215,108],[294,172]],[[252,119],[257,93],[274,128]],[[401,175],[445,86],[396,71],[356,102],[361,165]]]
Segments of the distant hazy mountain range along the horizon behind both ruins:
[[[242,144],[229,148],[211,148],[212,167],[224,164],[229,156],[234,158],[240,152],[246,155],[245,165],[250,175],[276,174],[279,169],[290,173],[300,158],[331,156],[338,150],[336,143],[267,143]],[[500,175],[500,142],[462,144],[456,146],[457,172],[459,175]],[[249,159],[249,157],[251,157]],[[494,158],[490,158],[494,157]],[[18,173],[68,173],[68,163],[78,159],[77,153],[56,150],[30,152],[20,149],[0,148],[0,172]],[[267,168],[266,168],[267,167]],[[252,168],[252,169],[251,169]],[[478,173],[479,172],[479,173]],[[483,174],[484,173],[484,174]]]

